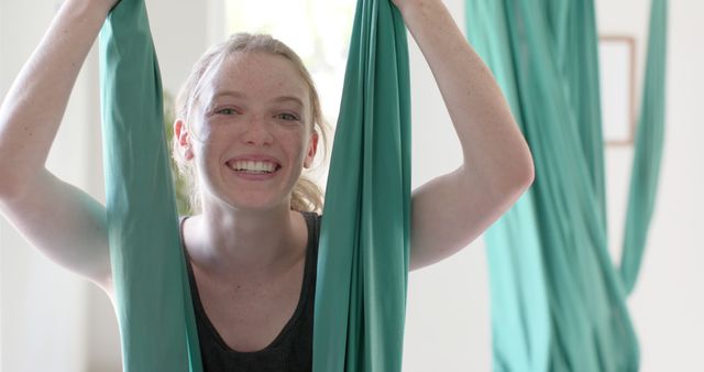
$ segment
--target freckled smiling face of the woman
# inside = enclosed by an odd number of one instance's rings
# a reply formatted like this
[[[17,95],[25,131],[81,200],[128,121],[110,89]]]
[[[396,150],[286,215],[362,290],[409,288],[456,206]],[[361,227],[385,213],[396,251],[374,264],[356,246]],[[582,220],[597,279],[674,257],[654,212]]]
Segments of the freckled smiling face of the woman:
[[[308,86],[292,62],[267,53],[226,57],[193,116],[193,161],[204,209],[288,208],[316,153]]]

